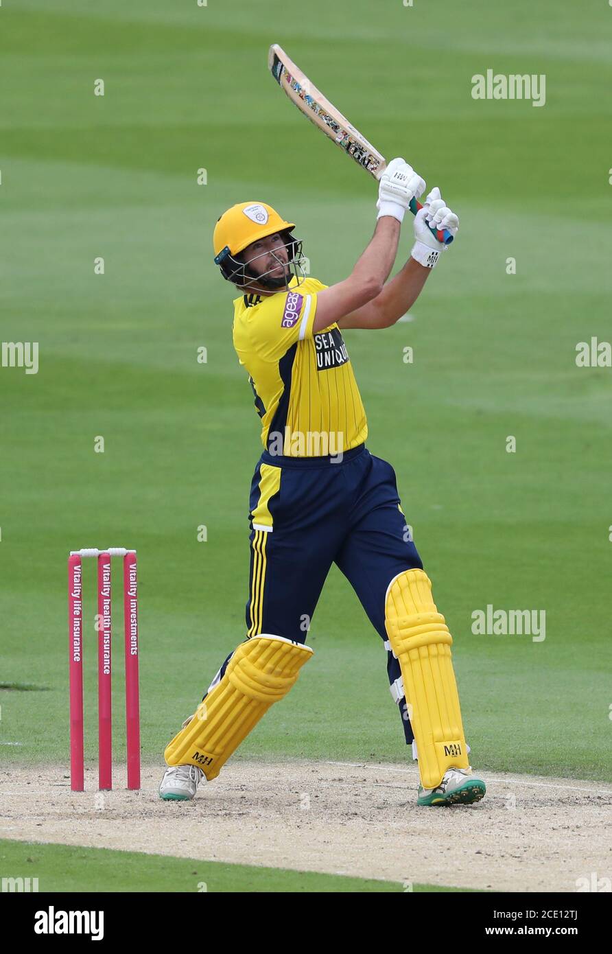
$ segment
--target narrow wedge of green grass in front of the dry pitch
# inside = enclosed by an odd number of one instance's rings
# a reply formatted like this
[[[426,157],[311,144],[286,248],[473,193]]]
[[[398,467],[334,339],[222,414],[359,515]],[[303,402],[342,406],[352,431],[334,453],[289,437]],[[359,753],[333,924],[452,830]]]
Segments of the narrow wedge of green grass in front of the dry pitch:
[[[37,878],[39,891],[173,891],[377,893],[470,891],[437,884],[413,884],[323,875],[316,871],[259,868],[250,864],[194,861],[108,848],[73,848],[0,839],[2,878]],[[32,883],[32,882],[30,882]],[[3,889],[4,890],[4,889]]]

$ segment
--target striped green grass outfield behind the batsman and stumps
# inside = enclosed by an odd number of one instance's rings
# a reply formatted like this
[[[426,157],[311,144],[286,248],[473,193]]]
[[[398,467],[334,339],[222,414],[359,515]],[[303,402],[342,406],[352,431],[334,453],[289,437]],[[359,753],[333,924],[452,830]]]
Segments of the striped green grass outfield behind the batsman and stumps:
[[[575,363],[577,342],[610,337],[611,15],[568,0],[3,3],[0,337],[40,348],[36,375],[0,367],[5,763],[68,758],[69,550],[138,550],[146,760],[161,764],[243,638],[260,446],[214,221],[269,201],[329,284],[376,215],[375,183],[267,74],[276,41],[461,218],[415,320],[345,338],[368,446],[397,471],[454,634],[473,764],[612,778],[612,370]],[[488,68],[545,73],[546,105],[472,99]],[[398,266],[411,244],[408,217]],[[545,611],[545,641],[472,634],[487,604]],[[406,759],[385,653],[336,570],[309,642],[296,689],[236,757]],[[115,660],[120,733],[118,644]],[[86,685],[93,702],[92,665]],[[93,708],[87,728],[92,758]]]

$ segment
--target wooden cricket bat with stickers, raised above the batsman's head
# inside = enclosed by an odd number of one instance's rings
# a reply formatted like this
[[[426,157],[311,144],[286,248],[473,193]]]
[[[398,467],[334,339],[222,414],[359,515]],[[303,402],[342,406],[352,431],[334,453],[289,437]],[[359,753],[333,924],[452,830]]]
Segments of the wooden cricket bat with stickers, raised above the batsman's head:
[[[323,93],[316,89],[308,76],[296,67],[293,60],[277,43],[270,47],[268,66],[278,86],[287,93],[297,109],[314,122],[321,132],[333,139],[340,149],[352,156],[371,176],[379,179],[387,165],[384,156],[374,148],[371,142],[368,142],[364,135],[358,132],[346,116],[343,116],[330,103],[329,99],[326,99]],[[422,209],[421,203],[413,198],[410,211],[416,216],[419,209]],[[430,227],[430,232],[444,245],[450,245],[453,241],[453,236],[448,229],[442,231]]]

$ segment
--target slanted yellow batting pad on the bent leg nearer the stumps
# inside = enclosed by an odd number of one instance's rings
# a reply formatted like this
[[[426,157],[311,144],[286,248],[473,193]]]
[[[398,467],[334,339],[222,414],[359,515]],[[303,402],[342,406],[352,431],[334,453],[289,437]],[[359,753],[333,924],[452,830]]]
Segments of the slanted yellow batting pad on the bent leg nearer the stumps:
[[[287,695],[310,659],[309,646],[283,636],[253,636],[240,643],[222,679],[174,736],[169,765],[196,765],[211,781],[273,702]]]

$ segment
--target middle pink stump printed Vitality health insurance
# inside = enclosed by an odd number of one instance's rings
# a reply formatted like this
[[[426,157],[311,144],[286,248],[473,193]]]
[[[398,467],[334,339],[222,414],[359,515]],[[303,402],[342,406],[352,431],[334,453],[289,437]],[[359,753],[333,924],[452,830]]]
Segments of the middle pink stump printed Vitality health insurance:
[[[98,556],[98,788],[112,788],[111,554]]]

